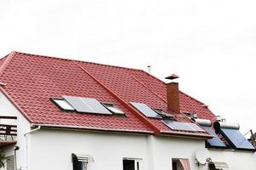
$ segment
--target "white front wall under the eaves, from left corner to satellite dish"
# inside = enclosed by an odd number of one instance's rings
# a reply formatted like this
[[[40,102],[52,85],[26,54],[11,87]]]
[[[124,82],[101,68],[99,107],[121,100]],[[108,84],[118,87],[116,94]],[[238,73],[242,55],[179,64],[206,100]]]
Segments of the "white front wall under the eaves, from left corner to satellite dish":
[[[172,158],[188,158],[198,169],[195,150],[204,148],[203,140],[53,129],[32,133],[31,142],[29,170],[71,170],[72,153],[93,156],[89,170],[122,170],[123,157],[142,158],[143,170],[171,170]]]

